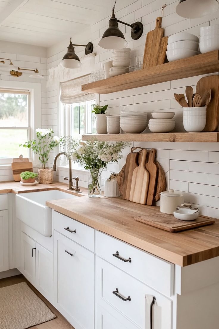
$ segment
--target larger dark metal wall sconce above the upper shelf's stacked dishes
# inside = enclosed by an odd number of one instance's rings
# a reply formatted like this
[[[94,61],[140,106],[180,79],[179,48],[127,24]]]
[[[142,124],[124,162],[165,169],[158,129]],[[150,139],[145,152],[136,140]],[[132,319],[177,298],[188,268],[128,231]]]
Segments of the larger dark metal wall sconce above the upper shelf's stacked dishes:
[[[103,36],[99,41],[99,46],[104,49],[122,49],[127,47],[128,42],[125,40],[123,33],[120,31],[118,23],[122,23],[131,27],[131,38],[133,40],[141,38],[143,33],[143,24],[141,22],[127,24],[118,20],[114,15],[115,6],[116,1],[112,9],[112,16],[109,20],[109,27],[103,33]]]

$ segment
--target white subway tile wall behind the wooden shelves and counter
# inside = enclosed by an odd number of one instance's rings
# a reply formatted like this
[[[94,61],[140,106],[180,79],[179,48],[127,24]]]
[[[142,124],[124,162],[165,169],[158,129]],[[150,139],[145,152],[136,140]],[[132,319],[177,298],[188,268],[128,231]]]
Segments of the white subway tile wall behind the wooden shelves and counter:
[[[201,26],[209,26],[219,23],[219,10],[208,16],[198,19],[184,19],[176,14],[178,1],[166,0],[162,27],[165,28],[165,36],[185,31],[199,36]],[[121,30],[128,42],[131,50],[131,65],[135,65],[136,56],[144,52],[146,33],[155,28],[155,19],[161,16],[162,0],[120,0],[116,7],[116,17],[127,23],[138,20],[144,25],[143,36],[139,40],[132,40],[130,37],[130,27],[120,24]],[[96,69],[102,69],[102,64],[112,59],[112,50],[106,50],[98,46],[104,30],[108,26],[109,17],[102,19],[91,26],[91,35],[83,42],[92,41],[94,52],[96,53]],[[57,48],[58,49],[58,48]],[[24,67],[35,67],[36,63],[40,70],[56,66],[66,49],[59,48],[60,51],[53,53],[47,59],[39,57],[20,56],[14,54],[3,54],[2,57],[13,58],[19,65]],[[81,48],[76,52],[79,57],[84,56]],[[12,57],[13,56],[13,57]],[[46,71],[45,71],[46,72]],[[2,80],[14,79],[5,72],[0,72]],[[45,73],[46,74],[46,73]],[[218,74],[218,72],[212,73]],[[175,131],[184,131],[182,125],[182,108],[174,99],[174,92],[185,93],[186,86],[193,86],[195,89],[197,81],[203,75],[185,78],[170,82],[164,82],[152,86],[145,86],[120,92],[100,95],[100,104],[109,105],[109,114],[117,114],[120,109],[139,110],[150,113],[155,110],[176,112]],[[35,82],[35,81],[34,81]],[[59,134],[59,115],[57,111],[57,95],[59,90],[57,85],[46,89],[42,82],[42,126],[53,127],[55,133]],[[185,201],[200,208],[203,215],[219,218],[219,143],[173,143],[173,142],[132,142],[131,146],[141,146],[147,149],[157,149],[157,160],[161,163],[166,173],[167,188],[183,191]],[[125,163],[125,157],[130,152],[129,149],[123,151],[124,158],[118,164],[109,164],[102,172],[102,185],[110,176],[112,171],[119,171]],[[51,163],[55,152],[51,156]],[[2,169],[4,170],[4,169]],[[73,175],[80,177],[80,185],[87,187],[88,173],[82,170],[73,169]],[[63,182],[63,178],[68,176],[68,169],[57,170],[55,179]],[[0,181],[11,177],[10,171],[0,171]],[[158,202],[159,204],[159,202]]]

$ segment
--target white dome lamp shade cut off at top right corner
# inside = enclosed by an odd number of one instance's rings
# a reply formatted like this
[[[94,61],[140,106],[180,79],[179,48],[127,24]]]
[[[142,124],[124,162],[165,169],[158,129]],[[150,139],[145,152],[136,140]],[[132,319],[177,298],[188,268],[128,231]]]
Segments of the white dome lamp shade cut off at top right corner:
[[[180,0],[176,7],[179,16],[185,18],[199,18],[217,11],[217,0]]]

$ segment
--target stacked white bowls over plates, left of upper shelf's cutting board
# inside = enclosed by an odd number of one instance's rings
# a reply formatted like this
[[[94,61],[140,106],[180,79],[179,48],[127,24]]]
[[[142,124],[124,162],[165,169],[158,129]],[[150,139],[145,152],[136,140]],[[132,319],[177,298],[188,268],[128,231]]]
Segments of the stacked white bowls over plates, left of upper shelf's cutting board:
[[[130,48],[115,49],[113,52],[113,67],[110,68],[110,76],[129,72]]]

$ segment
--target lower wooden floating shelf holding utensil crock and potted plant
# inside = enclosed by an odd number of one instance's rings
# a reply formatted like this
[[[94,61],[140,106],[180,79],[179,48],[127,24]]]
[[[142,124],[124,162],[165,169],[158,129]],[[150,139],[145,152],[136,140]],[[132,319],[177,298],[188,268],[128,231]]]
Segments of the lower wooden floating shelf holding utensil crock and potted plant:
[[[82,140],[134,141],[134,142],[219,142],[219,132],[162,133],[162,134],[86,134]]]

